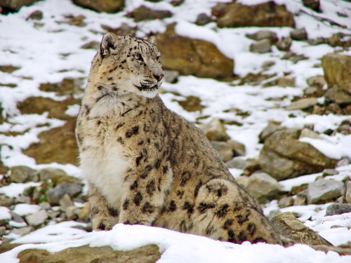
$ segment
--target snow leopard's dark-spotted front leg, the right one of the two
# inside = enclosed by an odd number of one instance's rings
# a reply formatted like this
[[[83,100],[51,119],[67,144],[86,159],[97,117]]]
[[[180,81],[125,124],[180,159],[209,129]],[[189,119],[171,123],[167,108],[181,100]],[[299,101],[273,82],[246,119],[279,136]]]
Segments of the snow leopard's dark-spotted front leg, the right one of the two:
[[[126,176],[119,223],[152,225],[171,188],[173,173],[168,161],[158,159]]]

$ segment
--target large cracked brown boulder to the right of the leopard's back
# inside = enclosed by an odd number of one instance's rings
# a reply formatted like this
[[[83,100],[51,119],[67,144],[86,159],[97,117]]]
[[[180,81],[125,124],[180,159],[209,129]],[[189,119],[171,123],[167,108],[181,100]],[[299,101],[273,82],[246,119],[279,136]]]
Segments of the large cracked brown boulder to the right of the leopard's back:
[[[300,142],[299,137],[300,131],[295,129],[277,130],[267,137],[259,156],[265,173],[280,181],[334,168],[336,160],[329,159],[311,144]]]

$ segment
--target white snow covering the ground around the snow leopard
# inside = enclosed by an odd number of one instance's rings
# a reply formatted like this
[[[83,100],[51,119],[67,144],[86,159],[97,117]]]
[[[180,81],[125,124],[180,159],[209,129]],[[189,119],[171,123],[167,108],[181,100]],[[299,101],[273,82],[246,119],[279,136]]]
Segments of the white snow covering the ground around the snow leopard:
[[[199,13],[211,13],[211,7],[225,0],[185,0],[184,4],[175,7],[170,1],[151,3],[143,0],[126,1],[126,8],[117,14],[95,13],[88,9],[80,8],[69,0],[39,1],[33,6],[23,7],[19,13],[0,15],[0,65],[13,65],[20,67],[15,72],[8,74],[0,72],[0,84],[15,84],[14,88],[0,86],[0,103],[2,114],[8,117],[8,122],[0,125],[0,132],[23,132],[23,135],[6,136],[0,134],[1,161],[4,165],[29,166],[32,168],[58,167],[69,175],[79,177],[80,170],[72,165],[59,165],[51,163],[38,165],[34,159],[22,154],[29,144],[38,142],[39,133],[58,126],[64,121],[48,118],[48,114],[21,115],[16,107],[17,102],[22,102],[28,97],[51,97],[61,101],[65,97],[39,90],[40,83],[55,83],[65,78],[85,78],[88,75],[91,60],[95,51],[82,49],[81,46],[89,41],[99,41],[104,30],[101,25],[117,28],[126,23],[134,26],[131,18],[126,18],[126,13],[133,11],[141,4],[156,9],[166,9],[173,13],[171,18],[164,20],[143,21],[138,23],[138,36],[145,36],[150,32],[164,32],[166,25],[177,22],[176,32],[182,36],[210,41],[228,58],[235,60],[234,72],[239,76],[262,71],[264,62],[272,61],[275,64],[265,71],[265,74],[275,74],[274,79],[284,76],[284,72],[291,72],[290,76],[296,78],[296,87],[282,88],[272,86],[238,86],[236,83],[219,82],[213,79],[199,79],[194,76],[180,76],[178,83],[164,83],[164,92],[161,94],[166,106],[185,116],[189,121],[195,121],[201,116],[238,121],[242,126],[227,126],[227,133],[232,139],[243,143],[246,147],[246,157],[257,157],[262,144],[258,143],[259,133],[267,126],[268,121],[282,122],[289,128],[302,128],[305,124],[312,124],[314,130],[321,133],[329,128],[337,128],[341,121],[350,116],[336,116],[333,114],[319,116],[310,115],[300,111],[287,111],[293,97],[303,95],[307,87],[306,80],[311,76],[323,75],[321,67],[314,67],[320,63],[323,55],[332,53],[339,48],[321,44],[310,46],[304,42],[293,41],[291,50],[294,53],[305,55],[307,60],[293,63],[290,60],[281,60],[284,52],[274,46],[271,53],[257,54],[249,52],[253,41],[245,37],[247,33],[269,29],[280,37],[289,36],[290,28],[237,28],[218,29],[215,22],[199,27],[194,22]],[[258,4],[264,1],[241,0],[244,4]],[[351,35],[351,3],[340,0],[321,0],[322,13],[313,13],[302,5],[300,0],[276,0],[277,4],[285,4],[286,8],[296,14],[296,27],[305,27],[310,38],[330,37],[338,32]],[[41,26],[34,26],[37,21],[26,20],[34,11],[40,10],[44,14]],[[304,12],[301,12],[304,11]],[[345,28],[332,26],[327,22],[314,17],[329,18]],[[345,16],[337,15],[343,13]],[[84,15],[84,27],[67,24],[68,16]],[[339,50],[343,54],[351,55],[351,50]],[[69,54],[69,55],[67,55]],[[270,80],[268,80],[270,81]],[[84,88],[84,86],[82,86]],[[177,93],[179,95],[175,95]],[[176,100],[182,96],[197,96],[205,106],[202,112],[186,112]],[[322,103],[322,101],[321,101]],[[237,116],[228,109],[239,112],[248,112],[249,116]],[[69,115],[78,113],[79,107],[70,107]],[[291,114],[295,116],[290,118]],[[204,123],[211,118],[202,119]],[[333,137],[324,135],[321,140],[305,139],[327,156],[340,159],[351,159],[351,135],[337,134]],[[343,180],[351,177],[351,166],[340,168],[343,177],[333,178]],[[235,176],[242,171],[234,171]],[[286,191],[291,187],[303,183],[313,182],[318,175],[305,175],[293,180],[280,182]],[[25,187],[35,183],[11,184],[1,187],[0,193],[8,196],[18,196]],[[282,209],[282,212],[291,211],[300,215],[300,220],[308,227],[316,230],[334,245],[351,241],[351,214],[324,217],[325,205],[293,206]],[[0,219],[8,218],[9,210],[0,208]],[[26,215],[37,211],[36,206],[16,207],[16,210]],[[272,201],[265,208],[265,213],[277,209],[277,202]],[[310,221],[309,221],[310,220]],[[339,228],[332,228],[333,225]],[[49,224],[47,227],[15,238],[13,243],[24,243],[18,248],[0,255],[0,262],[18,262],[15,259],[20,250],[27,248],[44,248],[54,252],[78,245],[90,244],[91,246],[111,245],[112,248],[128,250],[138,248],[140,245],[156,244],[163,252],[159,262],[351,262],[351,256],[339,256],[336,252],[319,252],[307,245],[294,245],[283,248],[279,245],[243,243],[241,245],[213,241],[201,236],[180,234],[167,229],[158,229],[145,226],[117,225],[112,231],[86,233],[75,228],[84,225],[77,222],[61,222]],[[43,243],[34,245],[33,243]]]

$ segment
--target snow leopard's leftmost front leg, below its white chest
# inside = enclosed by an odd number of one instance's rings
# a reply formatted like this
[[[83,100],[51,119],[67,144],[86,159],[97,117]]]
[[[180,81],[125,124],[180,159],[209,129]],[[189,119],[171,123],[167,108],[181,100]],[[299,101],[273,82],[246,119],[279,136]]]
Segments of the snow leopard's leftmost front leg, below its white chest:
[[[109,205],[106,199],[100,194],[100,191],[89,184],[89,203],[91,210],[91,222],[93,230],[110,230],[117,224],[119,210]]]

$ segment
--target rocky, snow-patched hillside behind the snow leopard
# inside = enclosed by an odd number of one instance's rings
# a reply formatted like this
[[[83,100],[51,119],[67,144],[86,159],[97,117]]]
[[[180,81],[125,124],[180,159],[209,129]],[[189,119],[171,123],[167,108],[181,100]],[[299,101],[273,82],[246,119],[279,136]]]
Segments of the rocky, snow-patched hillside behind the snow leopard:
[[[166,257],[157,243],[129,252],[107,243],[60,252],[15,248],[91,231],[74,126],[106,32],[154,36],[166,106],[204,131],[285,234],[351,255],[350,21],[346,0],[0,0],[4,259],[21,250],[20,262],[74,262],[88,253],[86,262]],[[64,225],[62,233],[44,230]]]

